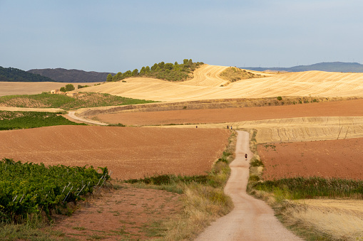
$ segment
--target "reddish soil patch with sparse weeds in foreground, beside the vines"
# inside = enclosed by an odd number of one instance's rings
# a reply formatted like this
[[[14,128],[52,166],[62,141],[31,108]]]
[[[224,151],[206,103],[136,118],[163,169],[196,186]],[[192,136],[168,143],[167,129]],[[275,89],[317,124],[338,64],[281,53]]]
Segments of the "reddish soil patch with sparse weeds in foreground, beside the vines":
[[[182,206],[177,193],[122,188],[83,203],[71,217],[56,220],[53,230],[77,240],[145,240],[162,235],[160,224],[180,213]]]

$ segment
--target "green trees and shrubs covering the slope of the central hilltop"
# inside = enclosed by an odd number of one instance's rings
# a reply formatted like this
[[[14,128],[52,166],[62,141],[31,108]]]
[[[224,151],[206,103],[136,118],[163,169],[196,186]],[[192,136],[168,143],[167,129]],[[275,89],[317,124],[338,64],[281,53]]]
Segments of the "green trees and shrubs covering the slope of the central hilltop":
[[[188,74],[192,73],[203,62],[193,63],[193,60],[185,59],[182,64],[175,63],[155,63],[151,68],[149,66],[133,71],[128,70],[125,73],[118,72],[116,75],[107,75],[107,82],[126,79],[127,77],[155,77],[161,80],[180,81],[186,80]]]

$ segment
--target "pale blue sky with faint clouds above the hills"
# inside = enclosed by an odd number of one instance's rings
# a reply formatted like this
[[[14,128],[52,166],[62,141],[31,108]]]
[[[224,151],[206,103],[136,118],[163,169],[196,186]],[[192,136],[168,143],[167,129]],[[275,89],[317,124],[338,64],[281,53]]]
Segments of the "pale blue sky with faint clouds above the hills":
[[[0,0],[0,66],[363,63],[362,0]]]

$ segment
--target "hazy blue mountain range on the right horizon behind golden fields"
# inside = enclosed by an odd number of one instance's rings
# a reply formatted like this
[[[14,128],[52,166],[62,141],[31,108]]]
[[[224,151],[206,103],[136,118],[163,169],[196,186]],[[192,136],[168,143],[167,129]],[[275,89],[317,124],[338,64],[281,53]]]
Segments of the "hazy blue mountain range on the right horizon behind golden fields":
[[[245,70],[255,71],[287,71],[287,72],[302,72],[302,71],[327,71],[327,72],[343,72],[343,73],[363,73],[363,65],[360,63],[343,63],[343,62],[329,62],[329,63],[315,63],[314,65],[299,65],[290,68],[264,68],[264,67],[243,67]]]

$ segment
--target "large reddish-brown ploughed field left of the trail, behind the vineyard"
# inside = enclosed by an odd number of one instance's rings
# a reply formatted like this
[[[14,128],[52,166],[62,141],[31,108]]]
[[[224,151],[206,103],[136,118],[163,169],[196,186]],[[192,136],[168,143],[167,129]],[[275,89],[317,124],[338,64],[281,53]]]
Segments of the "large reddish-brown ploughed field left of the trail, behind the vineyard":
[[[200,175],[210,171],[230,132],[58,126],[0,132],[0,159],[46,165],[108,166],[113,178],[155,173]]]

